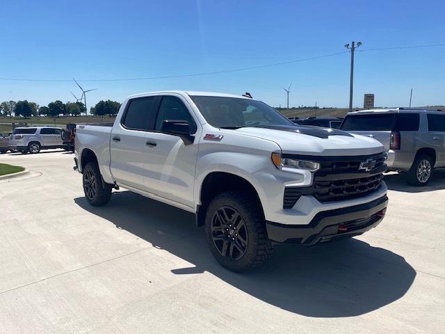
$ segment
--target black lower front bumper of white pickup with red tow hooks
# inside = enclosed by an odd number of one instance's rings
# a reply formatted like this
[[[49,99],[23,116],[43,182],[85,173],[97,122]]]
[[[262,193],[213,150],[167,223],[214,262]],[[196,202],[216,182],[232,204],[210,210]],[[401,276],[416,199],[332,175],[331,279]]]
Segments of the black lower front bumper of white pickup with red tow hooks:
[[[385,216],[387,205],[385,195],[361,205],[318,212],[308,225],[266,221],[268,237],[278,243],[305,246],[353,237],[375,228]]]

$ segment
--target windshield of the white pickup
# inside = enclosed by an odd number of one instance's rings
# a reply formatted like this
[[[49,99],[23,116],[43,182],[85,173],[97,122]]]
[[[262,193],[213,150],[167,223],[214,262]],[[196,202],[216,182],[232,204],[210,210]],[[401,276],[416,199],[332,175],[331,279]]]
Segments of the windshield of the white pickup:
[[[261,125],[292,125],[264,102],[238,97],[191,96],[202,116],[213,127],[238,129]]]

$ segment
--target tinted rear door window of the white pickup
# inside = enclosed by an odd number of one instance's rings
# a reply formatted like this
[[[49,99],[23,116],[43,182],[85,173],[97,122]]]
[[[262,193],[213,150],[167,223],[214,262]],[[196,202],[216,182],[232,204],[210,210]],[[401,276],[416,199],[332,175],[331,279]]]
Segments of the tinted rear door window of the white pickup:
[[[156,111],[154,106],[156,97],[140,97],[129,101],[127,111],[121,120],[121,124],[127,129],[150,130],[153,128]]]

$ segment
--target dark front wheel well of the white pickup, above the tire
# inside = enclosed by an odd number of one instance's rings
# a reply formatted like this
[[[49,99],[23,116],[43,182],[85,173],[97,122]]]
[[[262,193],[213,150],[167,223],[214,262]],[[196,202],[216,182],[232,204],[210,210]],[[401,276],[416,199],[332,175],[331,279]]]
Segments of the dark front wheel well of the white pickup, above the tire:
[[[201,183],[199,191],[199,203],[196,209],[196,225],[204,225],[207,207],[211,200],[224,191],[243,191],[252,195],[252,200],[257,201],[261,207],[261,214],[264,216],[263,205],[257,189],[252,182],[245,177],[227,173],[223,171],[213,171],[208,173]]]

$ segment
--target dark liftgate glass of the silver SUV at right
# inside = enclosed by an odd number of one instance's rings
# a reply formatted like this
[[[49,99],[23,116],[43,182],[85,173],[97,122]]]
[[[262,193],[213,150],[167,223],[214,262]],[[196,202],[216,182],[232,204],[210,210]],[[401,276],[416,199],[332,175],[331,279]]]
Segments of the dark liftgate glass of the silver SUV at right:
[[[341,129],[346,131],[391,131],[393,127],[394,113],[350,115],[341,125]]]

